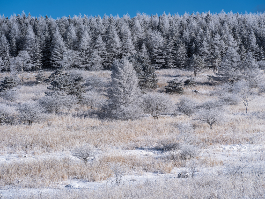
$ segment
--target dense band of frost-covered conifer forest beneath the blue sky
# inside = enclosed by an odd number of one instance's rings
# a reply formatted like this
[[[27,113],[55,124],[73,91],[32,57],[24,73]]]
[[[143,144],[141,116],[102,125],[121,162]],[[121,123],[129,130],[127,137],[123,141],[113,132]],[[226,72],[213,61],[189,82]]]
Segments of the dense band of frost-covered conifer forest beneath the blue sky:
[[[0,18],[0,57],[4,70],[9,70],[12,58],[24,50],[33,69],[64,66],[99,70],[135,53],[146,53],[145,59],[156,69],[187,68],[192,56],[199,55],[204,67],[214,70],[229,47],[237,51],[241,61],[247,52],[257,61],[264,59],[264,15],[221,11],[53,19],[23,12]]]

